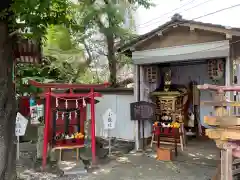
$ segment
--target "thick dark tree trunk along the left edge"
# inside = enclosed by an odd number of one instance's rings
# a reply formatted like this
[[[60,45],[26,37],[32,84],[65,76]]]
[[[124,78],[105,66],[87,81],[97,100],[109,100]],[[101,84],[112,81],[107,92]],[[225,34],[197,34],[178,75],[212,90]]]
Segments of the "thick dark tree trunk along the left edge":
[[[13,39],[8,23],[0,22],[0,179],[16,179],[15,119],[13,87]]]

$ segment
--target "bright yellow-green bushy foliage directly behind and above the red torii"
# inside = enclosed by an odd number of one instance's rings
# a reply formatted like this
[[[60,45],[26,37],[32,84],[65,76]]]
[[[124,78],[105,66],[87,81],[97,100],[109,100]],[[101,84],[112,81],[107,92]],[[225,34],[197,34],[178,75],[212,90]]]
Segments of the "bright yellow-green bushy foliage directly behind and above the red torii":
[[[17,92],[38,93],[39,89],[26,85],[29,79],[39,82],[90,83],[96,76],[90,72],[84,49],[68,28],[50,25],[43,46],[44,63],[41,65],[18,65]]]

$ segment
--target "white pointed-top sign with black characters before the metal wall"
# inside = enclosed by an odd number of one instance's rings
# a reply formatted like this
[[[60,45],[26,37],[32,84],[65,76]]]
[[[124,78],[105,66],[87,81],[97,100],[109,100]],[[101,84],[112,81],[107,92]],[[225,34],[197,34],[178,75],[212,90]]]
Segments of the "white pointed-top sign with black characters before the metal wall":
[[[116,114],[111,109],[108,109],[103,114],[103,124],[104,124],[104,129],[111,130],[115,128]]]

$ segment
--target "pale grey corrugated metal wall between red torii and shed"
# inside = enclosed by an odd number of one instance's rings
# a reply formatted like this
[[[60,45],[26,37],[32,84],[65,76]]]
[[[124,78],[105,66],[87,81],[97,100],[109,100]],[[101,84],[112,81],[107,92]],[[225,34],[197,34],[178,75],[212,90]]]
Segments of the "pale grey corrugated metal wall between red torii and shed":
[[[96,104],[96,136],[115,137],[124,140],[134,140],[134,121],[130,120],[130,103],[134,102],[132,95],[103,94]],[[116,113],[115,129],[110,132],[104,130],[102,115],[111,108]],[[87,107],[87,115],[90,118],[90,106]]]

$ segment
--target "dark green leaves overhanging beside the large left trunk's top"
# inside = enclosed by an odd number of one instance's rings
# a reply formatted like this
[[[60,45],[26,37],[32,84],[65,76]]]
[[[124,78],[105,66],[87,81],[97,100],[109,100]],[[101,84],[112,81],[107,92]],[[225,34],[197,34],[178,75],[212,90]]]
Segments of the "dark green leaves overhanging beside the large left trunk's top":
[[[45,35],[49,25],[69,25],[68,0],[14,0],[11,10],[14,18],[30,27],[36,38]]]

